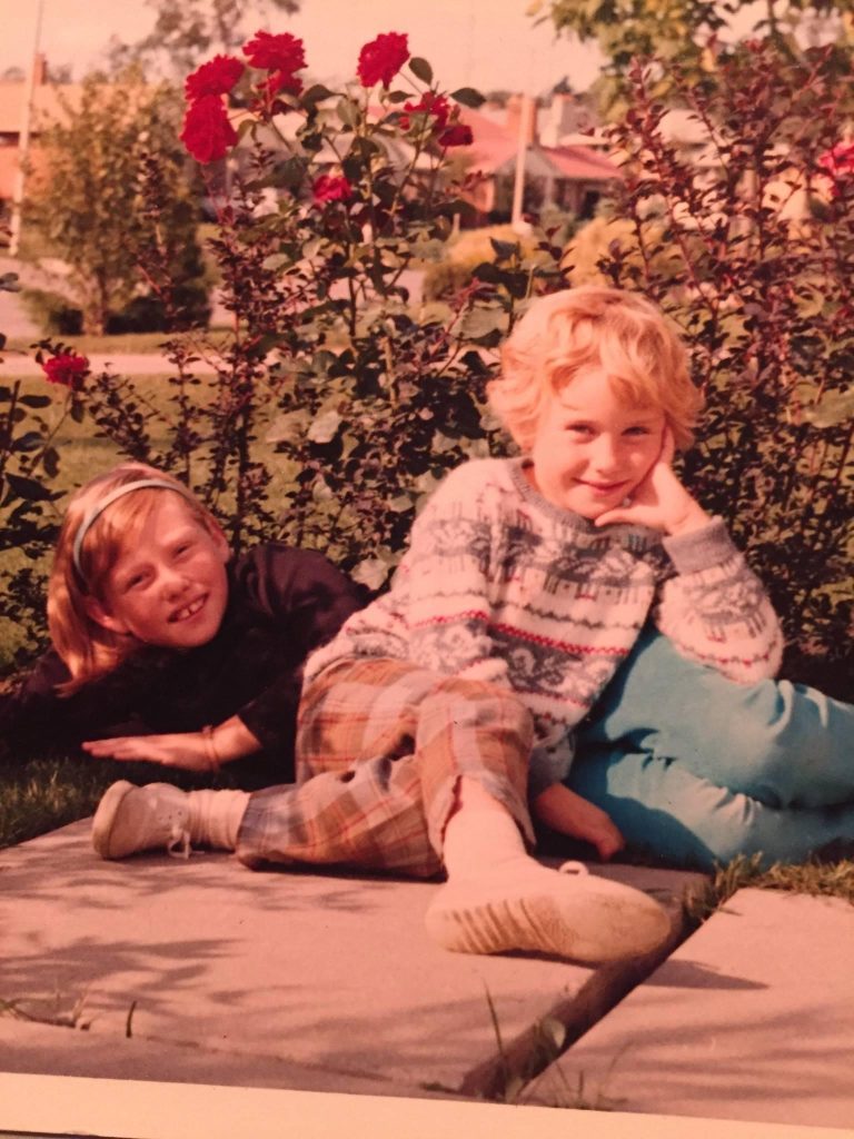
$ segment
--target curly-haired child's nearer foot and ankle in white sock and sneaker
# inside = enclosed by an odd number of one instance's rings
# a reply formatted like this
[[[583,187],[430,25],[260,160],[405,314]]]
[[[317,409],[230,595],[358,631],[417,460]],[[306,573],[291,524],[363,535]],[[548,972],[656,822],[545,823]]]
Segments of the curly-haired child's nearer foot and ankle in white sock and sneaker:
[[[670,933],[665,911],[640,891],[578,863],[567,863],[572,874],[541,866],[503,809],[461,808],[445,829],[443,859],[449,880],[425,924],[444,949],[609,961],[649,952]]]

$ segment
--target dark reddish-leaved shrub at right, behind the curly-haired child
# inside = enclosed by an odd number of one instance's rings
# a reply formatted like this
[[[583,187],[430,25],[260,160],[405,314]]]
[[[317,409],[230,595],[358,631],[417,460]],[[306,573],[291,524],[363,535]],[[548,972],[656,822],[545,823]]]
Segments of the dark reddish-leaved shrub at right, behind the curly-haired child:
[[[832,49],[797,62],[759,42],[714,84],[671,69],[705,132],[691,153],[667,134],[652,74],[634,67],[611,132],[626,180],[597,270],[682,327],[707,399],[685,477],[765,581],[788,673],[851,696],[852,76]]]

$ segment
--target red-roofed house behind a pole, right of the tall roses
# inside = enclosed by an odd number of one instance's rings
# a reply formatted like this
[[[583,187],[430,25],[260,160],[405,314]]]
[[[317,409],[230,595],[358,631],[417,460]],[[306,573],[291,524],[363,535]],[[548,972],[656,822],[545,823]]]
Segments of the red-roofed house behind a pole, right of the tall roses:
[[[547,107],[526,106],[511,95],[503,107],[484,104],[463,108],[462,122],[474,141],[461,148],[470,173],[484,177],[471,192],[481,223],[511,220],[519,147],[525,147],[522,213],[553,207],[578,219],[593,216],[596,205],[621,179],[607,154],[591,112],[573,95],[555,95]]]

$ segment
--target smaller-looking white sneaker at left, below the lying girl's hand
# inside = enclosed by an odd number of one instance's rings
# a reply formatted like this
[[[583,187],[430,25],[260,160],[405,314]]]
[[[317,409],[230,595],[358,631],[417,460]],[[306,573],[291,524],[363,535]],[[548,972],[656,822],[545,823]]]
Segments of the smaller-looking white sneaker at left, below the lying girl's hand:
[[[190,857],[189,795],[172,784],[134,787],[126,779],[104,793],[92,819],[92,846],[101,858],[165,850]]]

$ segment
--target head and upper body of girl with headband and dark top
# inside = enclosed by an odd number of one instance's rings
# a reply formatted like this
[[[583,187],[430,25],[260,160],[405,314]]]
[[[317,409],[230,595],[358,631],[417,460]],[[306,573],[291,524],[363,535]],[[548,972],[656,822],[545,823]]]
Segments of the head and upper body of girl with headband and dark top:
[[[0,738],[293,781],[303,662],[359,605],[319,554],[272,542],[232,560],[182,483],[122,464],[71,500],[48,585],[52,649],[0,698]]]

